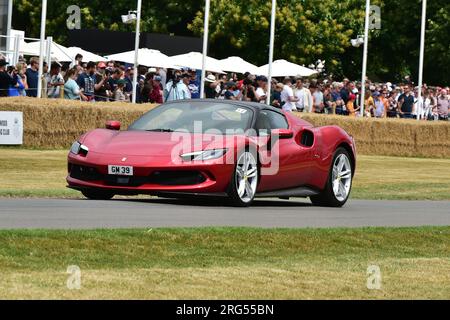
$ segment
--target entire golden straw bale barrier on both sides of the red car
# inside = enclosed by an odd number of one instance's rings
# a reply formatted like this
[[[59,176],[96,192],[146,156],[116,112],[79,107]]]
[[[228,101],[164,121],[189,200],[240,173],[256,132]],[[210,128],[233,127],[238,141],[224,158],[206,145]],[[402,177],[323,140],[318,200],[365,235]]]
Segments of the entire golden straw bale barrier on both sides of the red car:
[[[119,120],[126,128],[155,105],[0,98],[0,111],[24,113],[24,146],[67,148],[82,133]],[[296,114],[316,126],[338,125],[354,136],[360,154],[450,158],[450,123]]]

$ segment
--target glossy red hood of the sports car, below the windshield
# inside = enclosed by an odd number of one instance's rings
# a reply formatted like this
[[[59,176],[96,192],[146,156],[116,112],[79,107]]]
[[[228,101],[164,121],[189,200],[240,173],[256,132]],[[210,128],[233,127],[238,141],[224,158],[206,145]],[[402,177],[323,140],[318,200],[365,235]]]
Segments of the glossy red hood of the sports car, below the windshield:
[[[83,141],[80,142],[89,148],[89,152],[167,157],[206,149],[231,148],[237,145],[237,140],[211,134],[97,129],[83,136]]]

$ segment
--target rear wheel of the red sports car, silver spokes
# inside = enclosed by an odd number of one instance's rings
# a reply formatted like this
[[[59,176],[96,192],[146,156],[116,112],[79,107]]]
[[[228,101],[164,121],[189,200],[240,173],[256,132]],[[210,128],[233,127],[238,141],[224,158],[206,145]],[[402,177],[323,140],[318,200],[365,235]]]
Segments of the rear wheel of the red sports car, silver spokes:
[[[311,202],[322,207],[342,207],[350,196],[352,178],[350,155],[344,148],[338,148],[333,156],[325,189],[320,194],[311,196]]]

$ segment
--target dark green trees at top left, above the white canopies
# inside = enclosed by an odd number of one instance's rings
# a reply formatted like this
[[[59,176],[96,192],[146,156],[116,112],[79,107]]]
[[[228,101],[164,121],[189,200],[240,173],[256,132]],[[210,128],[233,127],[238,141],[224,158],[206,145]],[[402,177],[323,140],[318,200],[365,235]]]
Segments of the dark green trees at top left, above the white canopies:
[[[15,0],[13,26],[25,30],[28,37],[39,37],[41,21],[41,0]],[[62,44],[68,36],[66,27],[67,7],[71,5],[66,0],[51,0],[47,8],[47,34]],[[121,0],[113,4],[101,0],[78,0],[81,8],[81,28],[113,31],[134,31],[135,25],[126,25],[121,21],[121,15],[129,10],[135,10],[136,0]],[[192,35],[187,30],[187,24],[193,19],[195,12],[200,10],[202,3],[195,0],[185,1],[149,1],[142,7],[142,32],[174,33],[177,35]]]

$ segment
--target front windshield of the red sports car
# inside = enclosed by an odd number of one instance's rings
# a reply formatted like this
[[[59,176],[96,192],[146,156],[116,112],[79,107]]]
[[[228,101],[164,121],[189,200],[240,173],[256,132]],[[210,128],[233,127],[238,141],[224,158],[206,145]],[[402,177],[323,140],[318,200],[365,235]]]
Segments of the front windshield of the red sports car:
[[[186,101],[163,104],[136,120],[128,130],[234,134],[246,131],[250,108],[229,103]]]

